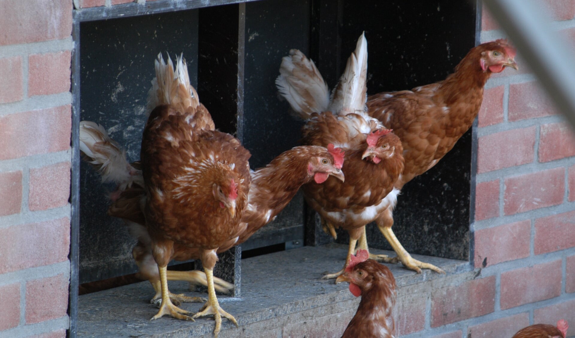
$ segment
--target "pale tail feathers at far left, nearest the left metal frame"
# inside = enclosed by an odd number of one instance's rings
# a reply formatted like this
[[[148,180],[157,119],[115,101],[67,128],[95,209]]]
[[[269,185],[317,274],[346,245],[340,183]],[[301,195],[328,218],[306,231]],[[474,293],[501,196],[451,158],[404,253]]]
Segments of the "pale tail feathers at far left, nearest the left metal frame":
[[[102,182],[114,182],[121,190],[140,180],[143,185],[141,172],[128,163],[126,151],[108,136],[102,125],[80,122],[80,151],[102,175]]]

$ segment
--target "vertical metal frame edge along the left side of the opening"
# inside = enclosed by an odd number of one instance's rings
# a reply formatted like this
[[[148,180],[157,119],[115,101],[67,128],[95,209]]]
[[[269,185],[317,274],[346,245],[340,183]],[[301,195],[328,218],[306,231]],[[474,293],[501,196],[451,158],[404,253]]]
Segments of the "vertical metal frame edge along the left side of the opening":
[[[72,169],[70,178],[70,331],[68,337],[78,335],[78,264],[80,250],[80,22],[72,24]]]

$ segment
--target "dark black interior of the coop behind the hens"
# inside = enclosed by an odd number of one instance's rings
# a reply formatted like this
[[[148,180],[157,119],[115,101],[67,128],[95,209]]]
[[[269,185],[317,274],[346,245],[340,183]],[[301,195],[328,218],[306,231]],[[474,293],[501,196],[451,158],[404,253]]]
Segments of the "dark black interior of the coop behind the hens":
[[[127,149],[131,162],[140,158],[146,98],[160,52],[173,58],[183,53],[191,83],[216,128],[236,135],[252,154],[251,167],[258,168],[299,145],[303,122],[290,116],[274,85],[281,58],[291,48],[313,59],[332,87],[365,31],[367,88],[368,94],[375,94],[444,79],[476,41],[476,8],[449,0],[368,0],[362,6],[350,0],[262,0],[103,19],[80,24],[76,68],[81,77],[80,120],[104,125]],[[471,151],[469,130],[438,165],[402,190],[393,229],[412,254],[435,256],[437,264],[444,266],[455,264],[454,260],[469,261]],[[121,220],[106,215],[114,186],[102,184],[89,164],[76,160],[81,168],[79,283],[131,275],[137,271],[131,254],[136,241]],[[391,249],[374,225],[368,226],[367,236],[370,248]],[[339,269],[347,234],[338,233],[340,245],[332,242],[298,193],[275,221],[241,249],[220,256],[218,264],[228,271],[220,276],[236,283],[236,297],[249,301],[257,297],[253,289],[262,287],[255,275],[271,285],[301,275],[290,270],[286,261],[290,256],[314,257],[317,266],[306,267],[309,278],[319,279],[328,268]],[[343,250],[343,257],[325,253],[326,245]],[[283,264],[283,272],[263,274],[265,267],[276,264]],[[194,263],[173,262],[172,266],[190,270]],[[399,276],[407,270],[394,269],[401,281]],[[139,280],[129,282],[135,281]],[[332,281],[325,283],[324,287],[335,287]],[[124,286],[129,287],[136,286]],[[150,285],[144,287],[151,296]],[[108,292],[124,292],[121,289]],[[82,306],[85,310],[97,306],[97,299],[87,297],[90,294],[80,297],[81,313]]]

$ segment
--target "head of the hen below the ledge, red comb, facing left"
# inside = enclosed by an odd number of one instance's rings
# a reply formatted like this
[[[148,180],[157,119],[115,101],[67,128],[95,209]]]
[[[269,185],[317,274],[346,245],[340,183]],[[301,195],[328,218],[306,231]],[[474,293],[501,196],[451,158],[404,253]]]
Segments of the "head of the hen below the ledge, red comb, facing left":
[[[395,278],[392,272],[383,264],[368,259],[367,250],[359,249],[357,255],[351,255],[346,271],[338,276],[336,283],[349,282],[350,291],[355,297],[370,291],[374,287],[387,290],[391,294],[395,289]]]

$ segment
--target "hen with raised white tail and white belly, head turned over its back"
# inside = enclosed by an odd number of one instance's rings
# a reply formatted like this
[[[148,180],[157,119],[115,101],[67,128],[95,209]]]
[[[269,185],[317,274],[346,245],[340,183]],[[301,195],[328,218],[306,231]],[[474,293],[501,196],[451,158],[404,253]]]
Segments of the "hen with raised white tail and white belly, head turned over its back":
[[[302,187],[324,230],[335,237],[333,228],[342,228],[350,235],[346,265],[323,277],[336,278],[350,262],[365,225],[395,205],[398,191],[394,184],[404,168],[401,141],[365,112],[367,41],[363,34],[331,97],[313,61],[297,49],[283,57],[279,72],[275,81],[279,94],[298,117],[306,120],[304,144],[332,143],[346,152],[342,168],[345,182],[328,179],[323,185],[312,182]],[[359,247],[367,249],[367,242],[360,241]]]

